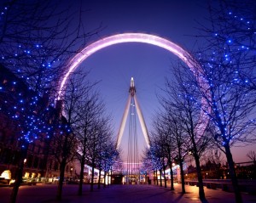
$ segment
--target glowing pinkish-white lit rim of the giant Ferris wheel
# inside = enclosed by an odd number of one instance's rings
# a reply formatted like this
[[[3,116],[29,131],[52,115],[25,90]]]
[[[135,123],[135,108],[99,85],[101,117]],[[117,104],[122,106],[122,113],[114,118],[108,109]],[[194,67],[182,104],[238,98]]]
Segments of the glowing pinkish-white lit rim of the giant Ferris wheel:
[[[189,66],[189,69],[192,70],[196,79],[201,84],[201,88],[204,92],[207,92],[207,83],[203,82],[203,79],[200,77],[201,67],[197,65],[193,57],[185,51],[183,48],[179,47],[177,44],[166,40],[165,38],[144,34],[144,33],[123,33],[117,34],[110,37],[102,38],[96,42],[91,43],[89,46],[85,47],[79,54],[76,54],[73,59],[69,62],[69,70],[63,77],[58,92],[58,99],[61,99],[62,94],[65,90],[65,83],[67,82],[67,77],[70,75],[73,70],[75,70],[85,59],[87,59],[91,54],[96,53],[96,51],[101,50],[102,48],[107,48],[113,44],[125,43],[125,42],[143,42],[155,45],[160,48],[165,48],[170,51],[172,54],[177,55],[179,59],[182,59],[183,62]],[[206,99],[201,99],[201,104],[207,107]],[[208,111],[209,112],[209,111]],[[201,123],[197,129],[203,133],[207,127],[208,116],[205,115],[204,110],[201,110],[200,116]]]

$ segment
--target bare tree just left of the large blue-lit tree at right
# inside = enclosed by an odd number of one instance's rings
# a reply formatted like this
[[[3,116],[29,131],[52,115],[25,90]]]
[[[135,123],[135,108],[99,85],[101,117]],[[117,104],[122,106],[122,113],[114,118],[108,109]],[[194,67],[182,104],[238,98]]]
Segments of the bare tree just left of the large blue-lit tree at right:
[[[203,189],[200,158],[210,142],[209,133],[201,130],[201,127],[208,123],[201,120],[201,100],[197,97],[198,88],[187,81],[192,72],[187,71],[187,75],[184,75],[176,67],[173,68],[176,82],[171,83],[166,80],[166,89],[163,89],[165,95],[160,99],[167,106],[167,110],[177,115],[176,119],[179,120],[179,125],[183,127],[183,133],[189,140],[184,144],[188,149],[187,153],[195,158],[199,196],[202,201],[207,201]]]

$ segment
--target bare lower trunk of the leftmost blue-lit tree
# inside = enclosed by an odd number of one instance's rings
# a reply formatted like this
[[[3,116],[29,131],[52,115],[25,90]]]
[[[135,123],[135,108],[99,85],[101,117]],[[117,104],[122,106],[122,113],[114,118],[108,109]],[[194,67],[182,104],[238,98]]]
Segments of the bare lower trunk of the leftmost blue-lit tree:
[[[28,144],[26,144],[26,146],[20,151],[21,155],[20,155],[20,161],[18,166],[18,172],[15,177],[14,188],[12,189],[12,193],[10,195],[10,200],[9,200],[10,203],[16,202],[18,191],[20,188],[20,183],[22,183],[22,174],[23,174],[24,161],[26,159],[26,154],[27,154],[27,148],[28,148]]]

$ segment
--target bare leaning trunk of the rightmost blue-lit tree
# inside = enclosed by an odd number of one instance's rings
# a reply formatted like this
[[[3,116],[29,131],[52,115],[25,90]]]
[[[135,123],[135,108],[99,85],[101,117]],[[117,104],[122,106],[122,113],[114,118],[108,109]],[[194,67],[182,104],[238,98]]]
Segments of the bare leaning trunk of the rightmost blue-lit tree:
[[[238,186],[238,181],[237,181],[237,177],[236,177],[236,169],[235,169],[233,157],[232,157],[232,154],[230,151],[230,145],[226,144],[224,146],[224,148],[225,148],[225,152],[226,152],[227,161],[228,161],[228,164],[230,167],[230,178],[231,178],[232,186],[233,186],[235,197],[236,197],[236,203],[241,203],[242,202],[241,191]]]

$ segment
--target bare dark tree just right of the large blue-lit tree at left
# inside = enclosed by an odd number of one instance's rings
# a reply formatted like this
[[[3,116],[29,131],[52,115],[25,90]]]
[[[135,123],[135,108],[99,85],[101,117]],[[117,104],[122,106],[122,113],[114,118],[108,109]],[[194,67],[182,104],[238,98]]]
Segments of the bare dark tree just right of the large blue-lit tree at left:
[[[54,138],[51,141],[55,144],[53,149],[53,155],[56,160],[60,163],[60,180],[58,183],[57,200],[61,200],[62,195],[62,184],[64,181],[65,167],[67,163],[73,161],[74,156],[77,155],[79,139],[77,128],[79,127],[81,117],[80,110],[81,104],[84,102],[84,97],[88,95],[92,85],[86,81],[87,73],[80,74],[74,73],[69,78],[66,87],[66,93],[62,100],[57,101],[59,104],[58,108],[65,114],[63,117],[60,114],[61,121],[57,121],[56,124],[63,128],[68,128],[65,133],[62,133],[63,129],[60,129],[54,134]],[[64,120],[64,123],[63,121]],[[61,125],[62,124],[62,125]],[[69,131],[69,132],[68,132]]]

